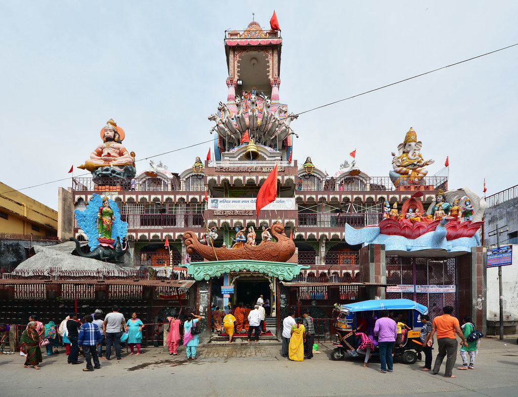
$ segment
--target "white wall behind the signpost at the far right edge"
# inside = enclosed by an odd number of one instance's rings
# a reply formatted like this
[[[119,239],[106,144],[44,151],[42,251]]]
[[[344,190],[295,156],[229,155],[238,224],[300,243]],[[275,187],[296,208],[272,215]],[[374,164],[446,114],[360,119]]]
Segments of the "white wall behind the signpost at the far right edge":
[[[513,244],[513,264],[502,266],[503,320],[518,319],[518,244]],[[498,268],[487,269],[487,319],[500,318]]]

